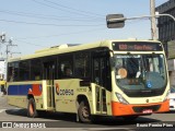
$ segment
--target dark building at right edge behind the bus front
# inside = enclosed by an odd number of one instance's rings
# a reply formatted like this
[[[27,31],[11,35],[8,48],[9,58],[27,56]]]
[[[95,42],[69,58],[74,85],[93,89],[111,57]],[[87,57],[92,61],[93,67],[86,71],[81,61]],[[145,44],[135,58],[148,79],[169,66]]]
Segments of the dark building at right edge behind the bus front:
[[[166,13],[175,16],[175,0],[156,7],[160,14]],[[164,44],[167,55],[167,68],[170,72],[171,85],[175,85],[175,21],[170,16],[160,16],[158,19],[159,40]]]

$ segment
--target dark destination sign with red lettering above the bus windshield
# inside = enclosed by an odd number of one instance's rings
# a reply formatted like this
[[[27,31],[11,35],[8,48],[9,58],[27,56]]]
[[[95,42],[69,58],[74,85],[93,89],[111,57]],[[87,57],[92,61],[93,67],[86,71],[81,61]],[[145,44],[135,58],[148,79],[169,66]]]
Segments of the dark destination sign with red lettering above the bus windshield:
[[[113,43],[113,49],[118,51],[162,51],[160,43]]]

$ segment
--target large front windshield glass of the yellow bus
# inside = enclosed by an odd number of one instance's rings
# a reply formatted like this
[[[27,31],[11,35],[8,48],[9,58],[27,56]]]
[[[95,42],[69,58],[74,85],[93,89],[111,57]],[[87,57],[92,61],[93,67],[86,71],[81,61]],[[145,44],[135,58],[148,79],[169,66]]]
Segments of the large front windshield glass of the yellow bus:
[[[116,83],[121,90],[158,90],[165,87],[163,55],[115,55]]]

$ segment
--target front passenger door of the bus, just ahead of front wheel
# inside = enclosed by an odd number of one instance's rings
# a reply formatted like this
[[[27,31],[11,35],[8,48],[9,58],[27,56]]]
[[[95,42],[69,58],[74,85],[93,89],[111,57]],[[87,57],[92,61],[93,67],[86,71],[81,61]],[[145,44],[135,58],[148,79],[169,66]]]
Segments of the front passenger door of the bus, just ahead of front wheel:
[[[108,63],[106,56],[98,56],[93,58],[93,82],[95,83],[95,99],[96,112],[107,114],[107,87],[108,84]]]

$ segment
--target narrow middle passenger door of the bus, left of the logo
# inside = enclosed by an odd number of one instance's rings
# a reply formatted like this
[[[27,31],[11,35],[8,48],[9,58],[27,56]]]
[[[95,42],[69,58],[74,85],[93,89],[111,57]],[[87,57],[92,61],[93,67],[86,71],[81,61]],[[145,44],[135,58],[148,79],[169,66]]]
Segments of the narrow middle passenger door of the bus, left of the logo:
[[[55,62],[44,63],[44,80],[47,82],[47,108],[55,109]]]

